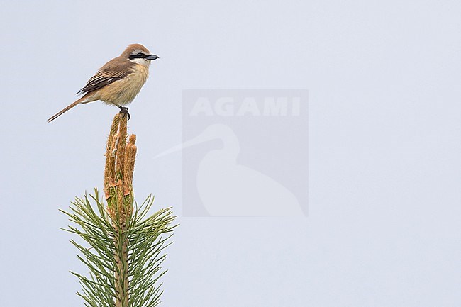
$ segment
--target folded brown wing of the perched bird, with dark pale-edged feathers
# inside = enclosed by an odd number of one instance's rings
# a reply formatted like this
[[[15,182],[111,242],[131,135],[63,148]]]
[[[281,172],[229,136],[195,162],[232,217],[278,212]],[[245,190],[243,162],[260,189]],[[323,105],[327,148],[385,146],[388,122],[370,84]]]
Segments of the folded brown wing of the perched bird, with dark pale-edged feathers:
[[[123,61],[117,57],[110,60],[88,80],[87,84],[82,89],[77,91],[77,95],[96,91],[96,89],[101,89],[101,87],[123,79],[133,72],[130,64],[130,62]]]

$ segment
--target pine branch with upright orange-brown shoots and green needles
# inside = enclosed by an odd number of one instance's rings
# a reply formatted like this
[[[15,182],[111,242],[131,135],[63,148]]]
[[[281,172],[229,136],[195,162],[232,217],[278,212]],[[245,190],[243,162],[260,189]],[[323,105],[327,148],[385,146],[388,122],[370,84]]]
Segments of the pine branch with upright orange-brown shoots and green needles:
[[[65,212],[71,223],[65,229],[78,235],[83,244],[71,240],[79,250],[78,259],[89,269],[89,276],[71,272],[79,278],[78,296],[85,306],[143,307],[160,303],[160,277],[163,251],[171,242],[175,216],[171,208],[147,216],[154,197],[148,196],[138,206],[134,201],[133,171],[135,135],[127,139],[126,117],[113,119],[106,146],[104,195],[107,206],[94,195],[84,195],[72,202]],[[167,235],[165,238],[162,235]]]

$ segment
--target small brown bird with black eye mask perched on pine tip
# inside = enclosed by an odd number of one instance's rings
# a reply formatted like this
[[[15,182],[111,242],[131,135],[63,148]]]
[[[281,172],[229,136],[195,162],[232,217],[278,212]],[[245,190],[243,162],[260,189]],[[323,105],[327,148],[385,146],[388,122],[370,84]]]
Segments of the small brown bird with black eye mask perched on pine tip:
[[[48,118],[48,123],[77,104],[96,100],[118,106],[121,113],[128,114],[129,118],[128,108],[124,106],[130,104],[139,94],[149,77],[150,61],[155,59],[158,59],[157,55],[151,55],[143,45],[129,45],[119,57],[101,67],[83,89],[77,91],[77,95],[83,94],[82,98]]]

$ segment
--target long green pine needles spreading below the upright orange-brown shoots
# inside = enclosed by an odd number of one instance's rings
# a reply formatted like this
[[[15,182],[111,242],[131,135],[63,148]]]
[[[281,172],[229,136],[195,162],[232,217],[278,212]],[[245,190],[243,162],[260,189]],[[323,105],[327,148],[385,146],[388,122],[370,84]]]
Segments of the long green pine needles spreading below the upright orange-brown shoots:
[[[115,255],[122,256],[123,242],[127,242],[128,251],[127,259],[123,259],[123,268],[128,267],[129,278],[126,307],[152,307],[160,303],[162,291],[161,284],[157,285],[157,282],[166,272],[161,267],[166,257],[163,250],[172,244],[169,241],[177,225],[172,226],[175,216],[171,208],[160,209],[146,217],[153,202],[154,197],[148,196],[142,205],[135,204],[123,236],[113,228],[113,221],[103,201],[99,200],[97,189],[94,196],[85,194],[83,199],[76,198],[70,212],[60,210],[76,224],[64,230],[78,235],[84,241],[83,245],[74,240],[70,242],[79,250],[78,259],[89,269],[88,277],[71,272],[82,285],[82,291],[77,295],[84,299],[85,306],[114,305],[118,295],[114,275],[119,270]],[[91,203],[96,204],[96,210]],[[168,235],[162,238],[165,234]],[[118,240],[114,240],[116,236]]]

